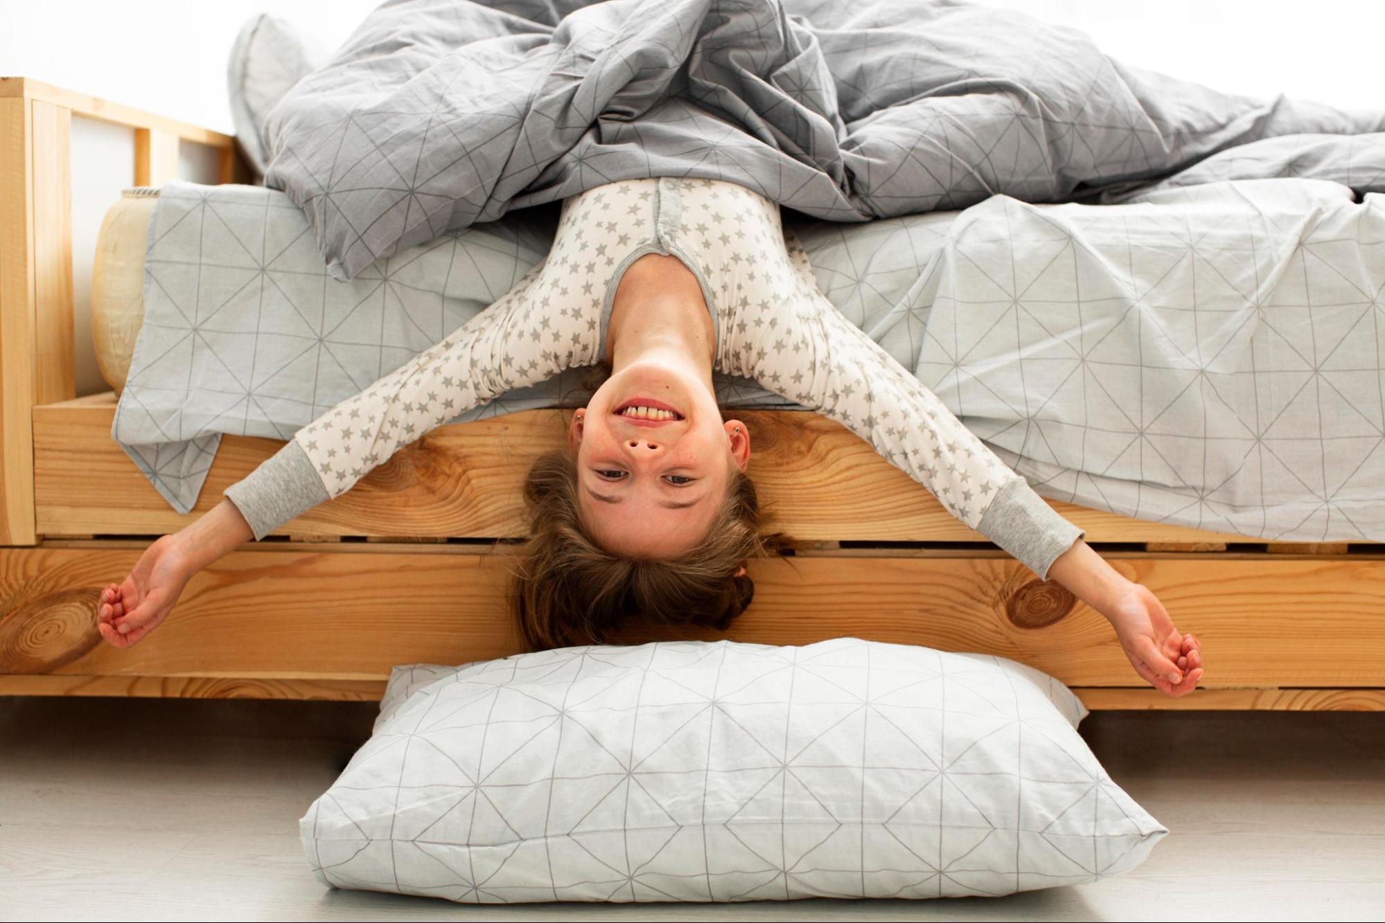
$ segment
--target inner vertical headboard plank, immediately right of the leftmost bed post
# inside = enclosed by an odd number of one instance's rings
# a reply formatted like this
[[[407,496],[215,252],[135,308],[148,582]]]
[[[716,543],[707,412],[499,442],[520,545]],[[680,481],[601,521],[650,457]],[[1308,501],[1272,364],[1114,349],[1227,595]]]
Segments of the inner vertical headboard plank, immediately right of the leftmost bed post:
[[[36,404],[76,394],[72,338],[72,113],[33,100]]]

